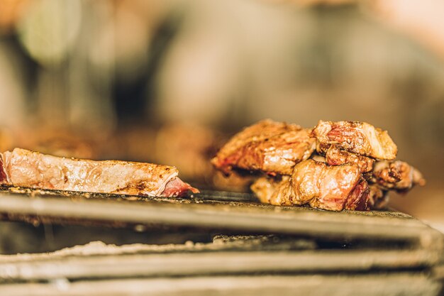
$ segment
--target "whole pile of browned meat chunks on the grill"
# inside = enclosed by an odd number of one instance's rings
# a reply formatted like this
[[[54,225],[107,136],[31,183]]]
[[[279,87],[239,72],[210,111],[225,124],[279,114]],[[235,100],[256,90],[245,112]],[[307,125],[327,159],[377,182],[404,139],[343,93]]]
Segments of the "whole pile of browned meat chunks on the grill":
[[[251,189],[261,202],[369,210],[384,208],[389,190],[406,192],[426,182],[395,160],[396,153],[387,131],[364,122],[301,128],[264,120],[233,136],[211,163],[227,175],[260,172]]]

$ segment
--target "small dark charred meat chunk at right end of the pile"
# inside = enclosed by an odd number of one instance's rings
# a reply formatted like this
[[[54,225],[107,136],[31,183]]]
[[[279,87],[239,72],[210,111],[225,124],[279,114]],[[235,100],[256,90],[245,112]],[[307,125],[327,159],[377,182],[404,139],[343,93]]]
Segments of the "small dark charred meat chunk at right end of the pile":
[[[406,191],[415,185],[426,185],[421,172],[408,163],[396,161],[378,161],[374,164],[369,180],[385,190]]]

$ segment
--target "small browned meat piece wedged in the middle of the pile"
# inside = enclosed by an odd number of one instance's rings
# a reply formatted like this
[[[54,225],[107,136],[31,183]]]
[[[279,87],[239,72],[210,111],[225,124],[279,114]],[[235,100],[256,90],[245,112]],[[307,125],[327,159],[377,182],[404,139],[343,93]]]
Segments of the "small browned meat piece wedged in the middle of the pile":
[[[360,169],[362,173],[370,172],[373,169],[374,158],[342,150],[338,146],[332,145],[326,152],[326,161],[329,165],[343,165],[352,163]]]

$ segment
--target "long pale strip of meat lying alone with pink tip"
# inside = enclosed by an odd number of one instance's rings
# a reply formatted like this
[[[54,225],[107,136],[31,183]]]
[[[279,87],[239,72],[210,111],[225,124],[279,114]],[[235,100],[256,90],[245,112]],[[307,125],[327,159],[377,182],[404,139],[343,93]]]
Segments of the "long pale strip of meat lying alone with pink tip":
[[[167,165],[59,158],[20,148],[1,159],[0,184],[6,186],[161,197],[199,192]]]

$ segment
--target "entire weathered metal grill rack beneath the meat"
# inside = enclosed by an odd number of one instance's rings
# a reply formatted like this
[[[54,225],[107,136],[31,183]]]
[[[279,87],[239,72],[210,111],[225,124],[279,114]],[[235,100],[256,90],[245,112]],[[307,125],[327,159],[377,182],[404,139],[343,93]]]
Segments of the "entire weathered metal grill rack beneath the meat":
[[[223,192],[16,191],[0,194],[4,219],[273,235],[0,256],[0,295],[438,295],[442,287],[442,234],[399,212],[274,207]]]

